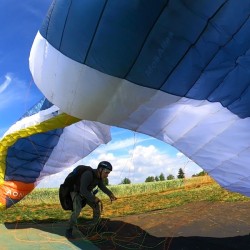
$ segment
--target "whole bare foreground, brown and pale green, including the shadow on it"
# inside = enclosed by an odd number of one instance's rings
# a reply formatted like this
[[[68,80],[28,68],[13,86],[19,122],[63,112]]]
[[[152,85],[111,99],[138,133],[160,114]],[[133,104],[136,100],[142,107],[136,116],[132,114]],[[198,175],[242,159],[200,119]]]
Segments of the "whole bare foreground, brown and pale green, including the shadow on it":
[[[79,226],[74,232],[77,238],[71,241],[64,237],[66,222],[4,227],[1,249],[8,250],[17,249],[15,245],[25,250],[250,250],[250,202],[196,202],[147,214],[103,218],[94,230]]]

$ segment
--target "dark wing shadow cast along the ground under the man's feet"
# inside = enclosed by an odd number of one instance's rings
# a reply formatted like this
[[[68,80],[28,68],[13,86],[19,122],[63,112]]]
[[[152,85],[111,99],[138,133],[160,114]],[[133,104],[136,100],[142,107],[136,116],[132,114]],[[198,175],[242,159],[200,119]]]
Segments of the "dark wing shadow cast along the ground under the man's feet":
[[[86,220],[80,220],[78,230],[74,231],[75,240],[71,240],[71,244],[79,249],[156,249],[156,250],[249,250],[250,236],[235,236],[227,238],[215,237],[155,237],[150,235],[142,228],[125,223],[123,221],[112,221],[102,219],[96,228],[90,229],[84,226]],[[59,236],[65,235],[66,221],[51,221],[46,219],[42,221],[19,222],[16,224],[5,223],[5,227],[9,230],[18,229],[38,229],[50,234]],[[145,224],[147,222],[145,221]]]

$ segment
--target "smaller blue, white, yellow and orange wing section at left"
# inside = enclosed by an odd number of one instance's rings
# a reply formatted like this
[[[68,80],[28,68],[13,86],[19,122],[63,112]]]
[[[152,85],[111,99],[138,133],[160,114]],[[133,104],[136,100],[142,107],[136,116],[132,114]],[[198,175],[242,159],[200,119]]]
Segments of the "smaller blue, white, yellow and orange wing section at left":
[[[109,126],[79,120],[41,100],[1,139],[0,210],[110,139]]]

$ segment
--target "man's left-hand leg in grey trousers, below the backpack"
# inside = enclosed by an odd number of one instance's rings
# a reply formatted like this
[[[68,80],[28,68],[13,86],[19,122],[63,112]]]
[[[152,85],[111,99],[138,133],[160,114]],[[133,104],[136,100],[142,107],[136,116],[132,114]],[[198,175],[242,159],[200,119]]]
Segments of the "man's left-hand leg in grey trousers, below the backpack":
[[[73,227],[77,225],[77,218],[79,217],[81,210],[82,210],[82,198],[76,192],[70,193],[72,201],[73,201],[73,211],[71,213],[69,222],[68,222],[68,229],[66,230],[66,237],[67,238],[74,238],[72,232]]]

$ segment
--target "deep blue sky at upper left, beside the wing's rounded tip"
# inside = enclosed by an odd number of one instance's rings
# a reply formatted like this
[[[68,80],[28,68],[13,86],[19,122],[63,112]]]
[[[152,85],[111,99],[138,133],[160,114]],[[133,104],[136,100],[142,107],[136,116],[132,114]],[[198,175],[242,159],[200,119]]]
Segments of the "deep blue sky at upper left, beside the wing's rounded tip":
[[[51,0],[0,0],[0,134],[42,97],[29,52]]]

